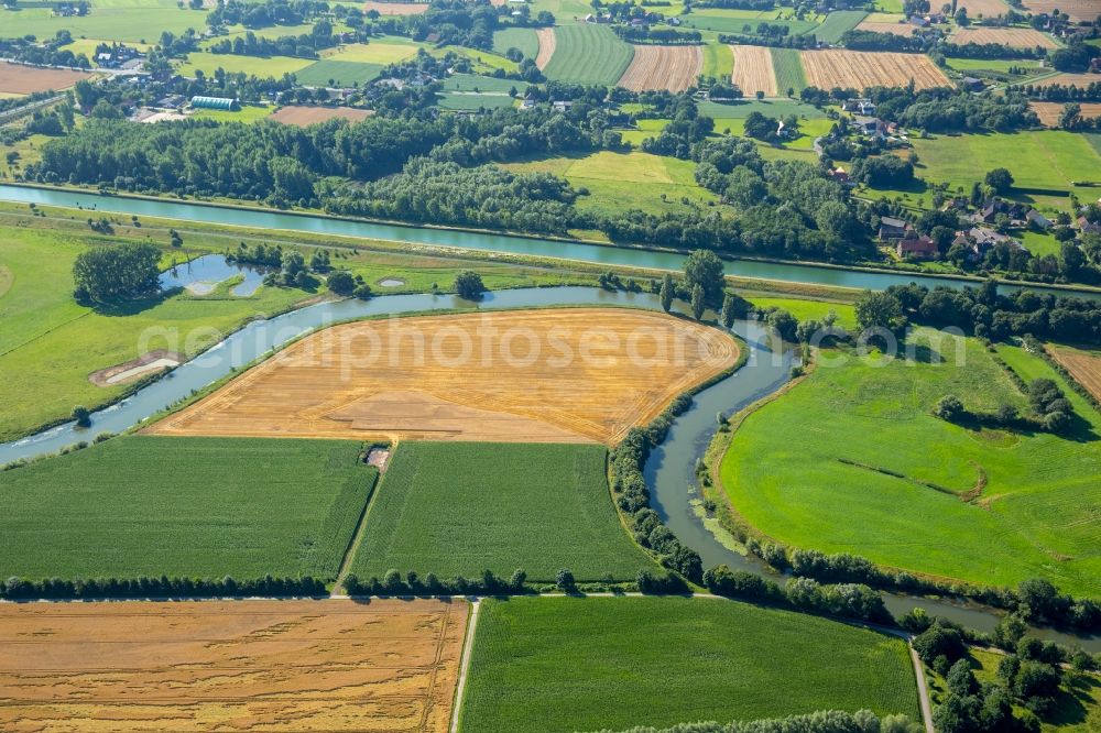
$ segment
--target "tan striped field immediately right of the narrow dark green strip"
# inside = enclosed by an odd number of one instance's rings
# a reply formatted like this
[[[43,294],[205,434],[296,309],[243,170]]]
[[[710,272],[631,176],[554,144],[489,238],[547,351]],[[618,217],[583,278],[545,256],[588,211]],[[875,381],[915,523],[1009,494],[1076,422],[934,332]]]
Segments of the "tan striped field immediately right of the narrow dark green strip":
[[[917,89],[951,86],[945,73],[924,54],[864,51],[802,51],[807,84],[819,89],[862,90],[868,87],[904,87],[914,79]]]

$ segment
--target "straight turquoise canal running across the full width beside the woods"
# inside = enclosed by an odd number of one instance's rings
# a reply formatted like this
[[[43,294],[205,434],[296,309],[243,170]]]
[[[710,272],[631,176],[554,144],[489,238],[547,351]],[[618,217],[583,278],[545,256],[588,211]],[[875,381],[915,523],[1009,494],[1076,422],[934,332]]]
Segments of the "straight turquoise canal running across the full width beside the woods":
[[[652,270],[683,270],[685,256],[677,252],[661,252],[631,247],[606,247],[577,241],[538,239],[494,234],[490,232],[461,231],[457,229],[434,229],[391,223],[379,223],[357,219],[340,219],[306,214],[292,214],[259,208],[241,208],[230,206],[214,206],[176,201],[172,199],[148,199],[129,196],[102,196],[92,193],[79,193],[61,188],[40,188],[30,186],[0,185],[0,200],[57,206],[64,208],[83,208],[85,210],[103,211],[108,214],[134,215],[139,217],[156,217],[176,219],[179,221],[196,221],[205,223],[249,227],[254,229],[272,229],[302,231],[315,234],[333,234],[337,237],[353,237],[360,239],[377,239],[391,242],[407,242],[411,244],[430,244],[462,250],[479,250],[483,252],[501,252],[506,254],[574,260],[589,264],[620,265],[645,267]],[[727,274],[756,280],[774,280],[795,283],[814,283],[840,287],[884,289],[891,285],[918,283],[927,287],[947,285],[964,287],[974,285],[946,277],[930,277],[909,273],[870,272],[847,270],[843,267],[824,267],[810,264],[794,264],[782,262],[760,262],[755,260],[734,260],[727,262]],[[1020,289],[1016,285],[1002,285],[1003,292]],[[1060,291],[1038,286],[1029,289],[1048,292],[1055,295],[1076,295],[1078,297],[1099,299],[1101,293],[1088,291]]]

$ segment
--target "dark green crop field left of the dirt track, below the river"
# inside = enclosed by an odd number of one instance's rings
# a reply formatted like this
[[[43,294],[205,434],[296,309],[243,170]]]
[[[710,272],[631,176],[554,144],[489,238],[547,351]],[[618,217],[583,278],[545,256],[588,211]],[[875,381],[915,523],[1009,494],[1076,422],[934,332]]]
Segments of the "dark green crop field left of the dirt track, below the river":
[[[116,438],[0,473],[0,576],[334,578],[377,472],[338,440]]]

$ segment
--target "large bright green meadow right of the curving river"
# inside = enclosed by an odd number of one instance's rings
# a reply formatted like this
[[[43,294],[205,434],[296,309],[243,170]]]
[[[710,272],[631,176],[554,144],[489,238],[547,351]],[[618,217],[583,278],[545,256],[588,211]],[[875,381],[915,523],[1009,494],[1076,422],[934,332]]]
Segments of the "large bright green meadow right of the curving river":
[[[1025,401],[977,340],[933,333],[886,365],[826,352],[804,383],[749,416],[721,466],[732,505],[795,547],[975,583],[1045,577],[1101,595],[1101,416],[1064,385],[1081,416],[1069,437],[939,420],[930,411],[946,394],[982,411]],[[999,353],[1025,380],[1061,382],[1038,357]]]

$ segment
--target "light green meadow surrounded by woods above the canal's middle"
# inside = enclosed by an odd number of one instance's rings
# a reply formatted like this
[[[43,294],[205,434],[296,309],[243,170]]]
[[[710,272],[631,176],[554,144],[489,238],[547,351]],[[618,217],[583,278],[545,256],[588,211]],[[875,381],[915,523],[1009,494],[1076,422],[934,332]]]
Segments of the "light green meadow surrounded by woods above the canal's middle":
[[[643,120],[642,122],[652,122]],[[641,123],[640,123],[640,127]],[[646,125],[645,133],[657,134],[656,125]],[[674,157],[652,155],[641,151],[614,153],[601,151],[582,157],[552,157],[527,163],[506,164],[515,171],[546,171],[564,176],[575,187],[588,189],[589,195],[578,198],[582,210],[620,214],[630,209],[657,212],[663,209],[686,210],[682,203],[687,198],[707,205],[718,197],[696,183],[696,164]],[[662,197],[665,197],[664,199]]]

